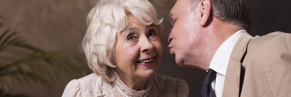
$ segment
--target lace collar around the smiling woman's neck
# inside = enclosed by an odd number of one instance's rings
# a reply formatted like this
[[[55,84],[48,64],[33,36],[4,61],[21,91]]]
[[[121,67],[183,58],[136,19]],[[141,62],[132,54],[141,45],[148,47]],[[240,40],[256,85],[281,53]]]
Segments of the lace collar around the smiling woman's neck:
[[[124,90],[126,93],[128,93],[130,96],[134,96],[134,97],[142,97],[148,90],[150,90],[151,86],[152,86],[152,78],[150,78],[149,80],[146,81],[146,87],[145,90],[141,90],[141,91],[136,91],[133,90],[129,87],[127,87],[127,85],[121,81],[121,79],[119,78],[118,74],[116,72],[114,72],[113,74],[115,76],[115,82],[117,83],[117,85]]]

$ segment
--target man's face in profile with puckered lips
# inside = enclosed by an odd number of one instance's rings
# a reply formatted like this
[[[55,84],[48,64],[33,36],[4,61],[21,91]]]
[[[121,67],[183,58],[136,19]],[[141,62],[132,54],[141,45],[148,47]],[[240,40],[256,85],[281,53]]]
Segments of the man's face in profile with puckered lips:
[[[203,50],[203,33],[199,31],[198,15],[188,11],[189,0],[178,0],[170,12],[173,28],[168,36],[168,49],[175,55],[179,66],[187,66],[201,57]]]

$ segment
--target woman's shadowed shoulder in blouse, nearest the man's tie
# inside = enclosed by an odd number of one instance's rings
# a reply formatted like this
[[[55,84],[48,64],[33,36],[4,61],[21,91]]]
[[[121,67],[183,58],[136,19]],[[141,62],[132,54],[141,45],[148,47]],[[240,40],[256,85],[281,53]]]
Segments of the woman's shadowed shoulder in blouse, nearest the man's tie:
[[[169,97],[188,97],[189,86],[187,82],[182,79],[155,74],[152,81],[153,87],[159,95],[171,95]]]

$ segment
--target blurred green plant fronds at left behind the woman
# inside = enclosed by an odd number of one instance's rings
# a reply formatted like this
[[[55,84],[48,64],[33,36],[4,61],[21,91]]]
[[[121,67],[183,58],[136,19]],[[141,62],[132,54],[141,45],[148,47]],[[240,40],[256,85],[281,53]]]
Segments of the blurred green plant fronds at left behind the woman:
[[[72,71],[85,75],[76,66],[80,63],[81,58],[78,56],[34,47],[17,36],[17,32],[7,29],[0,32],[0,97],[29,97],[4,92],[12,89],[14,84],[51,84],[57,82],[60,75],[72,78]]]

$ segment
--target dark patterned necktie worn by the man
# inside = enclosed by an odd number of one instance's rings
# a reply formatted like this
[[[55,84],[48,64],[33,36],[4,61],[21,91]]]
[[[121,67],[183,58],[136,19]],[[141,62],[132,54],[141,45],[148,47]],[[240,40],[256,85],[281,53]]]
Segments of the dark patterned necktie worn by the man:
[[[215,78],[216,78],[216,72],[212,69],[209,69],[203,81],[203,86],[200,93],[201,97],[213,97],[213,90],[212,90],[211,82]]]

